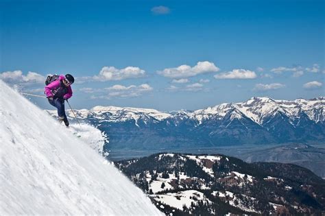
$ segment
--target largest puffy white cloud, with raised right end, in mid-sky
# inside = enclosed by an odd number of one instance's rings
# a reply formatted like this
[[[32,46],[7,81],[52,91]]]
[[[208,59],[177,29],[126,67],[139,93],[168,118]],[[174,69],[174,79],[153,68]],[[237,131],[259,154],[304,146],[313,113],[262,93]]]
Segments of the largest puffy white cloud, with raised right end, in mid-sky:
[[[163,71],[158,71],[158,74],[169,78],[184,78],[193,77],[202,73],[217,72],[219,68],[213,64],[213,62],[197,62],[194,67],[183,64],[180,67],[168,68]]]

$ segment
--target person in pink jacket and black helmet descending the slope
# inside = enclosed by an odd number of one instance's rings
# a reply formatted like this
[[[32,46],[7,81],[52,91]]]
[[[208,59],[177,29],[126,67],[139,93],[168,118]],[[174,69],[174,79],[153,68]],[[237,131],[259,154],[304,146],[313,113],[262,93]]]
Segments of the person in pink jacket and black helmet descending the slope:
[[[49,101],[49,104],[55,106],[58,109],[59,121],[64,121],[64,124],[68,127],[69,121],[64,110],[64,100],[72,97],[71,84],[75,82],[75,78],[71,74],[67,75],[53,75],[48,78],[49,84],[45,86],[45,95]],[[51,81],[51,79],[54,79]]]

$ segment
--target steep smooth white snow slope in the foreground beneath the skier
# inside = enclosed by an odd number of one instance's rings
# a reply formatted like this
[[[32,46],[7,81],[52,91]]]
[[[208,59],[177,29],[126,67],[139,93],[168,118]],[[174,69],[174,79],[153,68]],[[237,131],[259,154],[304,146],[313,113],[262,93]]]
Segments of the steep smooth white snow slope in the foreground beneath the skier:
[[[111,163],[0,80],[0,215],[161,215]]]

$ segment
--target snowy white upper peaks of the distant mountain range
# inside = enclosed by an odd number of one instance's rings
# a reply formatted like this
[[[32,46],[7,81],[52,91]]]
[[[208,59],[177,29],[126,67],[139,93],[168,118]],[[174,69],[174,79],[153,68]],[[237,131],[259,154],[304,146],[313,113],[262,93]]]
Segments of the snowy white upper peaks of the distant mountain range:
[[[137,122],[139,119],[150,118],[156,119],[156,121],[177,119],[177,122],[184,119],[192,119],[197,121],[197,125],[200,125],[210,119],[222,119],[228,112],[234,112],[232,119],[240,119],[245,116],[258,124],[263,124],[265,119],[276,115],[277,112],[287,115],[290,119],[299,118],[300,113],[304,112],[309,119],[317,123],[324,121],[325,97],[309,100],[296,99],[294,101],[276,100],[269,97],[252,97],[243,103],[224,103],[200,110],[180,110],[171,113],[146,108],[95,106],[91,110],[77,110],[77,116],[82,119],[95,117],[113,122],[131,120]]]

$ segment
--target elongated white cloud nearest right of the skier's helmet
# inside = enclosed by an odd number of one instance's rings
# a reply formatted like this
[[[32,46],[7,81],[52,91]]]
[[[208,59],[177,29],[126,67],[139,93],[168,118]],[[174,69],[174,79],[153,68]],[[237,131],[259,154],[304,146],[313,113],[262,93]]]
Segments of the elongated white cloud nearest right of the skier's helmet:
[[[93,76],[96,81],[109,81],[109,80],[124,80],[128,78],[143,77],[145,71],[139,67],[125,67],[125,69],[117,69],[115,67],[103,67],[99,75]]]

